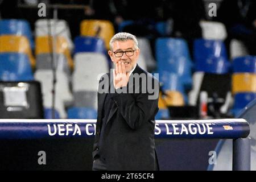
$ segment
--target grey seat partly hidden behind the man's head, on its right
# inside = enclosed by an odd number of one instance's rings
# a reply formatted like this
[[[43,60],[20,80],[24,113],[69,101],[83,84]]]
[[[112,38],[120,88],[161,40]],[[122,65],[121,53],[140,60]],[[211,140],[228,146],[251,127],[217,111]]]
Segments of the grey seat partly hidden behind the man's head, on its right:
[[[137,38],[137,40],[139,49],[141,49],[141,55],[143,55],[146,60],[147,70],[151,72],[156,68],[156,61],[152,55],[150,42],[146,38]]]

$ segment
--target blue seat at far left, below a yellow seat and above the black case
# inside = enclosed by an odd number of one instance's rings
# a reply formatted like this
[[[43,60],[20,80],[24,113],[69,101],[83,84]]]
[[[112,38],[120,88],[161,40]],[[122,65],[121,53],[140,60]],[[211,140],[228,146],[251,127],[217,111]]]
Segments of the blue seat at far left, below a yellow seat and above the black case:
[[[34,80],[30,60],[23,53],[0,53],[0,80]]]

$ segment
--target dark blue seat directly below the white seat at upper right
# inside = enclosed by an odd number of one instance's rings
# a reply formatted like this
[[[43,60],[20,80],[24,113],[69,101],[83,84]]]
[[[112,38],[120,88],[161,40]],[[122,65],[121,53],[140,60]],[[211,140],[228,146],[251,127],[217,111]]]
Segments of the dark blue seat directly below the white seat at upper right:
[[[197,39],[194,42],[193,53],[197,72],[216,74],[229,72],[228,56],[221,40]]]

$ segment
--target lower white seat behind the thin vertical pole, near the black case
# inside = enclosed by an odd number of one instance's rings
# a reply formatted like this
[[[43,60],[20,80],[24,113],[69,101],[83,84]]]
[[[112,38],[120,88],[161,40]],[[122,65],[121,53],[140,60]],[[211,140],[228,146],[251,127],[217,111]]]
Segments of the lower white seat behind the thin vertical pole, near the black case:
[[[52,92],[53,73],[51,70],[37,70],[35,79],[41,82],[43,94]],[[73,96],[69,89],[69,80],[64,72],[56,71],[55,93],[61,98],[61,102],[64,105],[70,105],[73,102]]]

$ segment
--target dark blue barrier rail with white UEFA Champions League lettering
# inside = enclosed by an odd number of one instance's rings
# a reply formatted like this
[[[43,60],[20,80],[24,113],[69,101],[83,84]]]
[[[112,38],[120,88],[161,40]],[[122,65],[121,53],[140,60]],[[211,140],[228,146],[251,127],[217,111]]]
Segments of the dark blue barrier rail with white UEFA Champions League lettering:
[[[94,137],[96,119],[0,119],[0,139]],[[250,170],[245,119],[156,121],[155,138],[233,139],[233,170]]]

